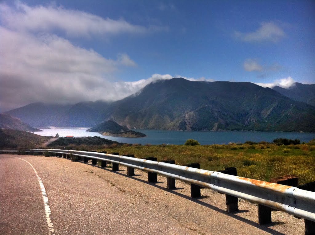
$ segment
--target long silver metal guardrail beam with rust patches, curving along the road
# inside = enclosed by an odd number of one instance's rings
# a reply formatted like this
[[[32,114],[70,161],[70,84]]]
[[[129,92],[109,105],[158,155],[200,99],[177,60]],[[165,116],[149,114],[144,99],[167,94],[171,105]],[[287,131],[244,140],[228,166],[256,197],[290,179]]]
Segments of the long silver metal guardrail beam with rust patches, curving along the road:
[[[315,221],[315,193],[276,183],[232,176],[216,171],[207,171],[146,159],[112,154],[64,150],[26,149],[3,150],[1,152],[51,152],[104,160],[143,171],[154,172],[184,182],[210,188],[220,193],[285,211],[306,220]]]

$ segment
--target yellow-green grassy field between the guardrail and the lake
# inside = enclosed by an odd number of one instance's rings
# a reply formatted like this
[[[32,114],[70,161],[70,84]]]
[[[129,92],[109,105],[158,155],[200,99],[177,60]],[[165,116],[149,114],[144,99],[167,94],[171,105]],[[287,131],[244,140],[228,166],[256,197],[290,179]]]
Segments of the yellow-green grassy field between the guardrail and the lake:
[[[270,178],[292,174],[299,183],[315,181],[315,145],[229,144],[229,145],[146,145],[113,146],[99,151],[135,154],[137,158],[157,157],[185,165],[198,162],[200,168],[217,171],[236,167],[238,176],[269,181]]]

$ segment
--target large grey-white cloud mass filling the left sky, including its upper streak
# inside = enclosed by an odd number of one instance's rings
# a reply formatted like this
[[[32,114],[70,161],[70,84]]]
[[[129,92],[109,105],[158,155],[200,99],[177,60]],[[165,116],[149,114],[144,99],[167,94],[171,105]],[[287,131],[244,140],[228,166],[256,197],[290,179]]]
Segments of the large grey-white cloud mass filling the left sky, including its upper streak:
[[[160,30],[157,27],[103,19],[62,7],[30,7],[21,2],[12,7],[0,3],[0,22],[0,111],[38,101],[117,100],[159,77],[115,82],[119,71],[137,67],[129,55],[117,53],[116,58],[105,58],[55,33],[92,38],[144,34]]]

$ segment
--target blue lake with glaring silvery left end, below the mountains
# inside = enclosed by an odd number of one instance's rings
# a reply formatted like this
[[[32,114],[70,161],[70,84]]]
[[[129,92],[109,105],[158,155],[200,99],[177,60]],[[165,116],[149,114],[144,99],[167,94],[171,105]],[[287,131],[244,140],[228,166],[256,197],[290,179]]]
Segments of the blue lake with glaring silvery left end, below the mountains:
[[[200,144],[228,144],[253,142],[272,142],[277,138],[299,139],[302,142],[309,142],[315,138],[315,133],[300,132],[274,132],[274,131],[166,131],[166,130],[134,130],[147,135],[142,138],[126,138],[102,136],[97,132],[88,132],[88,128],[54,128],[44,129],[34,132],[41,136],[60,137],[71,135],[73,137],[99,136],[102,138],[118,141],[122,143],[140,143],[140,144],[184,144],[187,139],[198,140]]]

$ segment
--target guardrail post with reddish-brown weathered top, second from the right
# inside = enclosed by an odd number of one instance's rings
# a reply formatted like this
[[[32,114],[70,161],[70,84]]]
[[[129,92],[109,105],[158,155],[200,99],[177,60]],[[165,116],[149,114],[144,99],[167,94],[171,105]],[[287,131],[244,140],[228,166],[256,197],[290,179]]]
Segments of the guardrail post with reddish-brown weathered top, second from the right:
[[[271,183],[283,184],[292,187],[297,187],[299,184],[299,177],[293,175],[281,176],[278,178],[270,179]],[[258,204],[258,223],[259,224],[269,224],[272,222],[271,219],[271,208]]]

